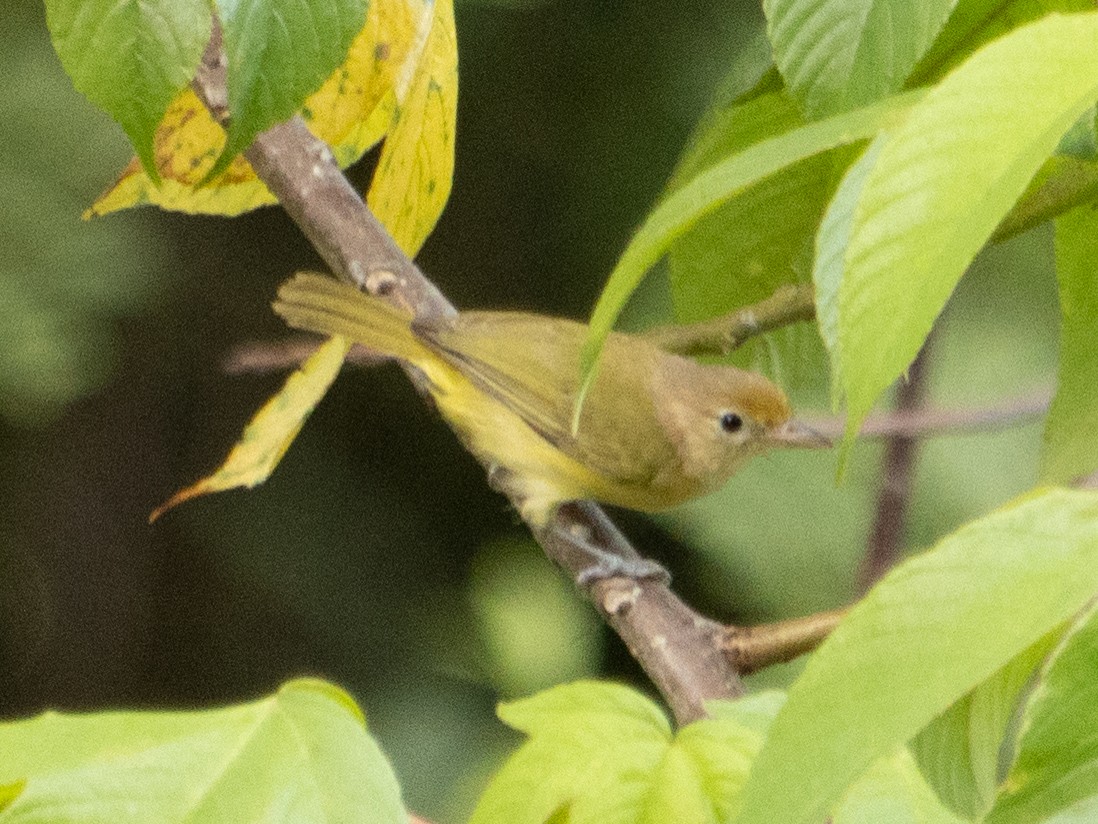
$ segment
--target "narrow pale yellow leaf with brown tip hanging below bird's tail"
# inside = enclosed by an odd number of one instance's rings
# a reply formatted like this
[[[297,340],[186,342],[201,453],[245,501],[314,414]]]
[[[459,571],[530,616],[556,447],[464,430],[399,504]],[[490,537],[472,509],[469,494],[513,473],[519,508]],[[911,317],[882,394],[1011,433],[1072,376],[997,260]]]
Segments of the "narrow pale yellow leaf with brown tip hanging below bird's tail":
[[[349,348],[350,344],[341,337],[329,338],[321,345],[287,379],[282,390],[255,414],[221,468],[198,483],[176,492],[153,510],[149,522],[192,498],[237,487],[250,488],[267,480],[309,413],[339,374]]]

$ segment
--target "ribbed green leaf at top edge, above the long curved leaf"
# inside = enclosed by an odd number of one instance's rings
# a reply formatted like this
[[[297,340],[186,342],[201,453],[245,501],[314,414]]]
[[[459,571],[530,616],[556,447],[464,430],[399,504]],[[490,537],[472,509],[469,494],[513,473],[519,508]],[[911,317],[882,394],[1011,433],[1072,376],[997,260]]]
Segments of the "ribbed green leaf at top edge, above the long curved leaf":
[[[899,91],[953,0],[764,0],[774,60],[810,118]]]

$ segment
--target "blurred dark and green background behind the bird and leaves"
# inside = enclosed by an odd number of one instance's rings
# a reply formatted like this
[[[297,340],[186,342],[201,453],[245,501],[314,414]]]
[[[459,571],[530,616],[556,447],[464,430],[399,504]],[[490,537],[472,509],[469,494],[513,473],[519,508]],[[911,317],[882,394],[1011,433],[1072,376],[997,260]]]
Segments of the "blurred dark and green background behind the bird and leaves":
[[[283,334],[274,289],[320,260],[278,209],[81,222],[130,149],[71,89],[40,3],[5,12],[0,717],[208,706],[320,675],[362,703],[410,805],[458,821],[513,743],[501,697],[587,675],[643,686],[392,367],[348,370],[265,487],[147,525],[278,387],[223,361]],[[457,175],[421,264],[460,307],[584,316],[760,10],[459,0],[457,19]],[[360,188],[368,175],[352,171]],[[1051,386],[1050,258],[1039,230],[962,282],[934,341],[935,403]],[[662,316],[662,272],[636,303],[634,323]],[[795,400],[826,414],[818,391]],[[1039,423],[928,443],[908,547],[1030,487],[1039,446]],[[862,445],[837,487],[833,456],[773,456],[703,502],[619,521],[706,613],[803,614],[854,595],[878,466]]]

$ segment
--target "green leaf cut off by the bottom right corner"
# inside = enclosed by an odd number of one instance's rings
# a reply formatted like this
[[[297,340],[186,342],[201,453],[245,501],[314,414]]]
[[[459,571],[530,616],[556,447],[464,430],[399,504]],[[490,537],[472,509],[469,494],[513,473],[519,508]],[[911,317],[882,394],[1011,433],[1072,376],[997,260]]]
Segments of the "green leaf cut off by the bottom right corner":
[[[1094,821],[1098,812],[1098,612],[1076,622],[1027,703],[1018,757],[987,824]],[[1086,811],[1088,815],[1084,815]]]

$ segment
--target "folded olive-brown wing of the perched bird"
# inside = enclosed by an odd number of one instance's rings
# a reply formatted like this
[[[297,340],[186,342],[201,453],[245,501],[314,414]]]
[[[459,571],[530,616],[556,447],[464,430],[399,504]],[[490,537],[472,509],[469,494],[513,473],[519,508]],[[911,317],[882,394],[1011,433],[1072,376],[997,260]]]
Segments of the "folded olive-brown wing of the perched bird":
[[[645,483],[665,459],[661,447],[673,448],[651,411],[643,370],[626,372],[605,363],[584,402],[580,431],[572,434],[586,335],[579,323],[520,312],[463,312],[445,324],[417,324],[414,332],[541,437],[608,479]]]

